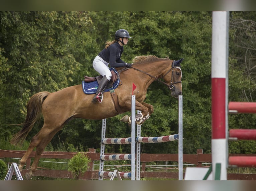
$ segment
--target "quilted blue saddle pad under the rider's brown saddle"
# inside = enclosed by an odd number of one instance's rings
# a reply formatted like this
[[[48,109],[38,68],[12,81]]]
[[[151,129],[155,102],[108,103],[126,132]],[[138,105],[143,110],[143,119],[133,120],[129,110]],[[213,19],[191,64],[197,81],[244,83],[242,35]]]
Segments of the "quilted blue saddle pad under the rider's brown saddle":
[[[110,70],[113,70],[115,73],[117,73],[114,68],[110,68]],[[113,83],[113,86],[111,88],[104,90],[104,92],[109,92],[110,90],[116,89],[119,85],[119,82],[120,79],[117,78],[117,80]],[[82,87],[85,94],[95,94],[97,92],[98,86],[99,84],[97,80],[93,82],[82,82]]]

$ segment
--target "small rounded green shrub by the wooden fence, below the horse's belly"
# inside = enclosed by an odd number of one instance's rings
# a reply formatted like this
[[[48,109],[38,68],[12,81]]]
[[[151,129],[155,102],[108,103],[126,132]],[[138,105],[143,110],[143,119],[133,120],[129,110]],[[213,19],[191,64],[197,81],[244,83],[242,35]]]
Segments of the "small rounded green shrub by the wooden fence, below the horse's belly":
[[[91,159],[89,159],[86,154],[78,152],[70,159],[68,171],[71,171],[73,176],[78,180],[79,176],[86,172],[90,162]]]

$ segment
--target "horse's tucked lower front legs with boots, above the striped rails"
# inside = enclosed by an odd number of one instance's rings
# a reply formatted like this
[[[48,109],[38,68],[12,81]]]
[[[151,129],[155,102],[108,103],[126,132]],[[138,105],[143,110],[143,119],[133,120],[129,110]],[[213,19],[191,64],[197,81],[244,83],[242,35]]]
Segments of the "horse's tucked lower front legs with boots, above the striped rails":
[[[141,113],[137,113],[135,115],[136,123],[141,125],[149,118],[149,116],[153,113],[154,108],[152,105],[145,103],[145,102],[138,102],[135,103],[135,109],[140,110]],[[120,121],[131,123],[131,116],[125,115]]]

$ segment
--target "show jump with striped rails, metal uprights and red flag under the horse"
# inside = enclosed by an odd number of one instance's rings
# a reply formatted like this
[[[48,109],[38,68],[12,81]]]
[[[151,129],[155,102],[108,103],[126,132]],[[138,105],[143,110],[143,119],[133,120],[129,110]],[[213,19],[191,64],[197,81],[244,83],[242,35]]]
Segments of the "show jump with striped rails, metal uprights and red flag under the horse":
[[[133,91],[136,89],[136,86],[133,84]],[[133,92],[132,92],[133,94]],[[119,177],[131,178],[131,180],[140,180],[140,143],[141,142],[168,142],[178,140],[178,162],[179,162],[179,180],[183,180],[183,132],[182,132],[182,95],[179,95],[178,100],[178,123],[179,123],[179,132],[175,135],[167,135],[161,137],[140,137],[141,126],[137,125],[137,138],[135,137],[135,95],[131,96],[131,137],[128,138],[105,138],[106,135],[106,119],[102,120],[102,144],[101,144],[101,157],[100,157],[100,170],[99,170],[99,180],[103,180],[104,176],[111,177],[111,180],[114,179],[116,172],[104,172],[104,160],[123,160],[123,158],[129,158],[131,160],[131,173],[119,173]],[[137,111],[140,113],[141,111]],[[142,140],[140,140],[140,138]],[[143,140],[146,138],[146,140]],[[137,144],[136,144],[137,139]],[[104,155],[105,144],[128,144],[131,143],[131,154],[115,154],[115,155]],[[137,153],[135,151],[135,145],[137,145]],[[135,157],[137,154],[137,158]],[[117,159],[118,158],[118,159]],[[120,159],[119,159],[120,158]],[[136,171],[135,171],[135,158],[136,160]],[[125,159],[128,160],[128,159]],[[135,173],[136,172],[136,173]],[[118,177],[118,176],[117,176]]]

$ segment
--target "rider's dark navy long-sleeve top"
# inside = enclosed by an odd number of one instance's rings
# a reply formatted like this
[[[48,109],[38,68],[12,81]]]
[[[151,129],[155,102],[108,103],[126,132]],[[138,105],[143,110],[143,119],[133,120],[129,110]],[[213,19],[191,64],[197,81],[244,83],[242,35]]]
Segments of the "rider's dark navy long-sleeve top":
[[[118,42],[111,44],[107,49],[103,49],[99,56],[110,64],[110,67],[119,68],[126,66],[125,62],[121,60],[121,55],[124,47],[120,46]]]

